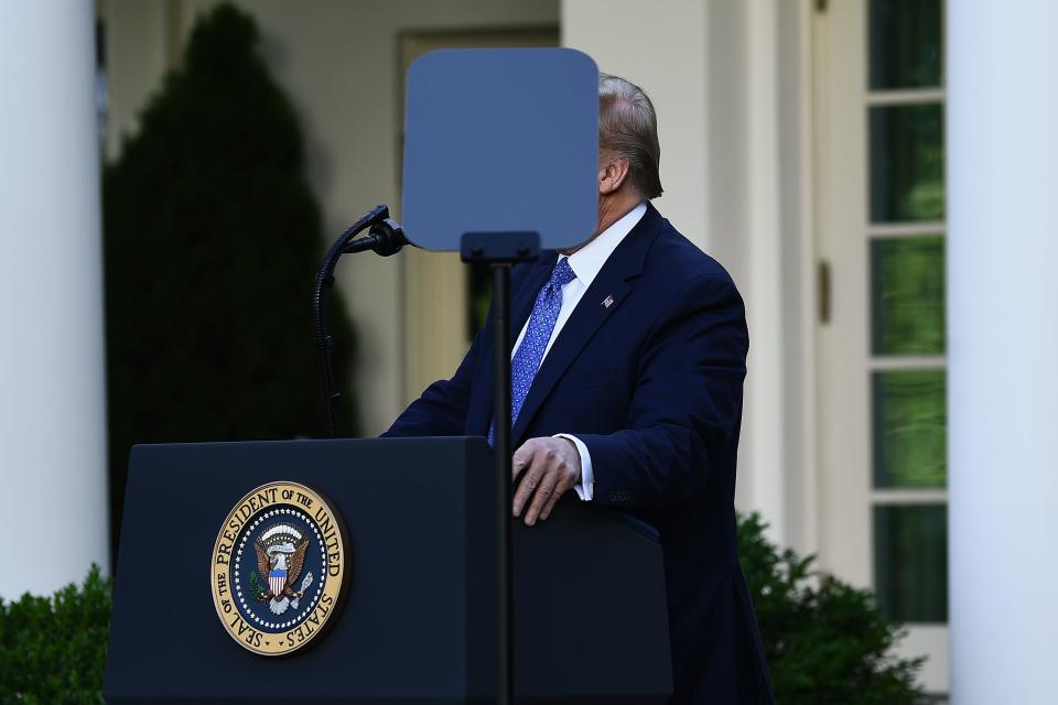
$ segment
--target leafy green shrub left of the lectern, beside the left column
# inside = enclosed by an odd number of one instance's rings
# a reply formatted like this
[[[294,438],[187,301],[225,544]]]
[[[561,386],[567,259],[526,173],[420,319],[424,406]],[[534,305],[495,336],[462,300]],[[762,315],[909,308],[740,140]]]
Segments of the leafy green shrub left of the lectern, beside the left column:
[[[109,626],[98,567],[52,597],[0,600],[0,703],[102,703]]]

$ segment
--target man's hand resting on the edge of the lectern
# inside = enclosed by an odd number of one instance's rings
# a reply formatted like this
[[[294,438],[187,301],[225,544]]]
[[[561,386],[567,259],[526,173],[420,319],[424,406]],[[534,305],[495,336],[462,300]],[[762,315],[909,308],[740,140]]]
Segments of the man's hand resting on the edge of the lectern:
[[[512,469],[511,481],[518,487],[514,514],[520,517],[528,502],[526,525],[531,527],[547,519],[559,498],[581,481],[581,454],[569,438],[529,438],[515,452]]]

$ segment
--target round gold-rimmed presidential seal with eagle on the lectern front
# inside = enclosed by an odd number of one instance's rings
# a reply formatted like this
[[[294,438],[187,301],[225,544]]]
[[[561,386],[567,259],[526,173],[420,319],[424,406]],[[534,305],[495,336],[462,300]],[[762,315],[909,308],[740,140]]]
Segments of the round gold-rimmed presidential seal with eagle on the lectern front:
[[[336,618],[349,576],[342,519],[298,482],[239,500],[213,547],[209,584],[233,639],[266,657],[309,646]]]

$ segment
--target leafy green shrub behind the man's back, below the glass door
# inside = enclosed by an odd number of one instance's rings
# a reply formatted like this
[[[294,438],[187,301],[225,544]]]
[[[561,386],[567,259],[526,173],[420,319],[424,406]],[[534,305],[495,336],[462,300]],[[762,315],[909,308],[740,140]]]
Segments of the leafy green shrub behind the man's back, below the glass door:
[[[812,568],[813,556],[779,551],[756,513],[739,518],[738,554],[780,705],[900,705],[922,702],[925,659],[898,659],[903,630],[870,590]]]

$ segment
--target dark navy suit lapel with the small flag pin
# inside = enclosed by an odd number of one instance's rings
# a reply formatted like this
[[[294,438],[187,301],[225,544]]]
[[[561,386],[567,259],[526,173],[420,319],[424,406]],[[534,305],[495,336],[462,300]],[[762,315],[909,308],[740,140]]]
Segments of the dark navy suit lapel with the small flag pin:
[[[660,223],[661,215],[652,206],[648,206],[643,219],[617,246],[592,285],[577,302],[576,308],[565,322],[559,337],[554,339],[551,350],[543,358],[532,380],[511,432],[515,444],[520,443],[533,414],[539,411],[544,400],[551,394],[551,390],[562,379],[595,332],[631,292],[633,284],[629,281],[643,272],[644,259],[658,234]],[[611,302],[608,305],[605,303],[607,300]],[[525,318],[521,323],[525,324]],[[516,328],[516,330],[520,329],[520,327]]]

